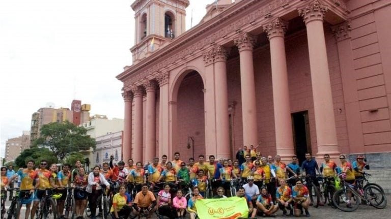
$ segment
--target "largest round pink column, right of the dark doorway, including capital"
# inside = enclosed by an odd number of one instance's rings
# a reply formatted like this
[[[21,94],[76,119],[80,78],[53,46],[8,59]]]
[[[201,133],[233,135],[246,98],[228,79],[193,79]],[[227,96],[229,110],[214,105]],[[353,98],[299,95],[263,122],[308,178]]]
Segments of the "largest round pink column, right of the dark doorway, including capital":
[[[307,29],[318,156],[324,153],[340,153],[323,30],[326,11],[327,7],[321,5],[318,0],[298,10]]]

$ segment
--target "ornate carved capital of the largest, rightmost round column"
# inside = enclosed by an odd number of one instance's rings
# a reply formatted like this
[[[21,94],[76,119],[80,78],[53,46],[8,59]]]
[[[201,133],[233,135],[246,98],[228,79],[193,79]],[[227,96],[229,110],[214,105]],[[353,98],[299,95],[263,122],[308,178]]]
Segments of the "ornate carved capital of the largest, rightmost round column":
[[[323,22],[323,17],[327,10],[327,6],[320,4],[319,0],[315,0],[312,3],[307,4],[303,8],[298,9],[298,12],[299,15],[303,17],[303,20],[306,25],[314,20],[320,20]]]

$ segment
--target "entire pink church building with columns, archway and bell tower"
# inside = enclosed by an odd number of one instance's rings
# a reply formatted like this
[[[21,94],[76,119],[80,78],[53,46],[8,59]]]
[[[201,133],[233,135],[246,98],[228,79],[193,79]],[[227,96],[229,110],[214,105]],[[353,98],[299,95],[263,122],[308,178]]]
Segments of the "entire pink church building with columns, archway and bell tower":
[[[213,2],[187,31],[188,0],[131,5],[123,160],[234,158],[254,145],[391,167],[390,0]]]

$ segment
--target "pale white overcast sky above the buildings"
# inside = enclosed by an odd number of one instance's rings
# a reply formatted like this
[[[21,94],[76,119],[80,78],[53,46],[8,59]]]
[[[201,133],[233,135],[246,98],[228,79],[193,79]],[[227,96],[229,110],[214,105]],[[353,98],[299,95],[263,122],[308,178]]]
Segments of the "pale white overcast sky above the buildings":
[[[124,117],[122,83],[131,65],[134,0],[0,1],[0,155],[9,138],[30,131],[41,107],[91,104],[91,115]],[[214,0],[190,0],[186,29]],[[191,13],[192,11],[192,13]]]

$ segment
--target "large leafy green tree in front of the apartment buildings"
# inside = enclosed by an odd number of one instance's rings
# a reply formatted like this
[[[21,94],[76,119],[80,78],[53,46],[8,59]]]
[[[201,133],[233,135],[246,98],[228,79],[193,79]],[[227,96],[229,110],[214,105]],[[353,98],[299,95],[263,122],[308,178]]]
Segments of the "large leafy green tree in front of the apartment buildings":
[[[44,124],[40,136],[34,141],[33,146],[50,148],[60,161],[71,152],[96,147],[95,139],[87,135],[85,128],[75,126],[69,121]]]

